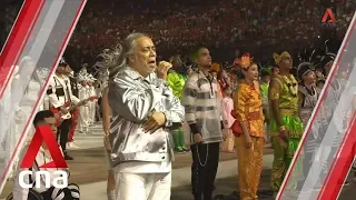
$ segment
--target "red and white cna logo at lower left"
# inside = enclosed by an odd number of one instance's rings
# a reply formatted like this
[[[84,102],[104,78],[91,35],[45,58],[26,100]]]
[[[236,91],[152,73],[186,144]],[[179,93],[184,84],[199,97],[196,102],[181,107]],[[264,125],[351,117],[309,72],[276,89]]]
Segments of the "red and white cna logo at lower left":
[[[38,171],[23,170],[19,174],[19,183],[22,188],[40,188],[41,182],[44,182],[46,188],[53,186],[55,188],[67,188],[68,187],[68,172],[65,170],[51,170],[51,172],[41,169],[67,169],[67,162],[62,156],[62,152],[59,149],[59,146],[55,139],[55,136],[49,126],[40,126],[36,129],[36,133],[32,138],[32,141],[26,152],[20,168],[32,169],[33,163],[36,162],[36,157],[41,148],[42,142],[46,143],[48,150],[53,159],[53,161],[48,162],[42,166],[38,166]],[[36,164],[34,164],[36,166]],[[52,173],[52,174],[51,174]],[[36,183],[26,183],[24,177],[31,176],[36,179],[32,182]],[[51,176],[56,176],[51,181]],[[42,179],[44,178],[44,179]]]

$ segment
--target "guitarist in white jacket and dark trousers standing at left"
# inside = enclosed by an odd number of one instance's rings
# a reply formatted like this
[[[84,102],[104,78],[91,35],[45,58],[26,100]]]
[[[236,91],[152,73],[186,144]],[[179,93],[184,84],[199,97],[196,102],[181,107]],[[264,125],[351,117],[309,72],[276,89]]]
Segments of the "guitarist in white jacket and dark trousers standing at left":
[[[68,63],[62,58],[58,64],[56,74],[49,80],[49,88],[47,90],[50,107],[52,108],[51,110],[57,110],[60,112],[60,114],[69,113],[70,109],[69,107],[66,107],[66,103],[70,102],[70,106],[72,106],[79,103],[80,101],[71,91],[70,79],[66,76],[67,66]],[[63,150],[66,160],[73,160],[73,158],[67,153],[66,149],[71,123],[72,119],[69,118],[65,119],[58,127],[58,137],[60,136],[60,146]]]

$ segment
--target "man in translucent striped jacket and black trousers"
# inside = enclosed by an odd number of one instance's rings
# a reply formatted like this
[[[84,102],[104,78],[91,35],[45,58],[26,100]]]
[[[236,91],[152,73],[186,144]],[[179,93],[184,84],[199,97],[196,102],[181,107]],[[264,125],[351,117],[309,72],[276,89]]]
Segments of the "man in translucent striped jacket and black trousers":
[[[216,78],[209,73],[211,57],[207,48],[195,54],[198,71],[188,78],[181,103],[190,127],[192,144],[191,184],[195,200],[210,200],[219,162],[219,143],[222,141],[220,127],[220,96]]]

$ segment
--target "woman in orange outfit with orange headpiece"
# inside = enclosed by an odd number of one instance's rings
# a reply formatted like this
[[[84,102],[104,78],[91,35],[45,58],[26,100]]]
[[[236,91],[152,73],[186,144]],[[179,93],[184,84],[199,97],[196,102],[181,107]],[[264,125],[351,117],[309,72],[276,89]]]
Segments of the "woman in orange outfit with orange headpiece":
[[[241,200],[258,199],[265,146],[264,112],[256,63],[240,64],[244,80],[234,96],[234,110],[241,132],[236,134],[238,182]]]

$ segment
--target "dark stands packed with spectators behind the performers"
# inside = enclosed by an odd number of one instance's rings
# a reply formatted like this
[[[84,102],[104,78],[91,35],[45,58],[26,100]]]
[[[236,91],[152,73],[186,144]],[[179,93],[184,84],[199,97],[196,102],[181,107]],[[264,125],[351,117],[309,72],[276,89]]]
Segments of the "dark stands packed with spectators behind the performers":
[[[2,3],[6,7],[2,7],[1,44],[22,1]],[[333,30],[322,24],[328,7],[334,8],[337,18]],[[251,52],[261,62],[268,62],[275,51],[288,50],[296,56],[305,46],[320,41],[319,38],[342,40],[355,8],[352,0],[89,1],[65,56],[78,72],[82,63],[91,67],[103,48],[112,48],[125,36],[138,31],[152,36],[162,59],[205,44],[215,61],[230,62],[241,52]]]

